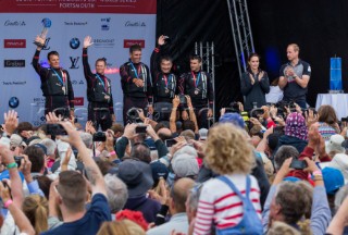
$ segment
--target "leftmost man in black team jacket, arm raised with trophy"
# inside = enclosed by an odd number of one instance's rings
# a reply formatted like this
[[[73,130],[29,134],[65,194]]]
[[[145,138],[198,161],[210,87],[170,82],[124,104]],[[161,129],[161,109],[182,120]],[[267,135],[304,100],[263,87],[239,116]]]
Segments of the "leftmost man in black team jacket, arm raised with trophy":
[[[37,36],[35,41],[45,45],[45,38]],[[60,67],[59,53],[50,51],[47,54],[50,67],[42,67],[39,64],[39,55],[42,47],[36,48],[33,66],[41,79],[41,90],[45,102],[45,114],[55,112],[63,118],[74,116],[74,90],[66,70]]]

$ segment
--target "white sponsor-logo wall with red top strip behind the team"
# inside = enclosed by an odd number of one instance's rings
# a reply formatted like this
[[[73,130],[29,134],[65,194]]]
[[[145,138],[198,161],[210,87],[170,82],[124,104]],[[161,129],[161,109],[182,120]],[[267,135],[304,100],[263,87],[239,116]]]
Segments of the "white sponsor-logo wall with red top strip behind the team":
[[[92,37],[88,49],[94,69],[98,58],[107,58],[107,76],[112,81],[116,121],[122,122],[119,67],[128,60],[128,48],[139,44],[142,62],[149,64],[154,47],[156,0],[0,0],[0,122],[2,113],[14,109],[20,121],[34,125],[45,122],[45,98],[40,79],[32,66],[35,37],[42,30],[42,20],[51,27],[40,63],[48,65],[47,53],[57,50],[61,66],[66,69],[75,92],[75,115],[87,120],[86,82],[82,64],[84,38]]]

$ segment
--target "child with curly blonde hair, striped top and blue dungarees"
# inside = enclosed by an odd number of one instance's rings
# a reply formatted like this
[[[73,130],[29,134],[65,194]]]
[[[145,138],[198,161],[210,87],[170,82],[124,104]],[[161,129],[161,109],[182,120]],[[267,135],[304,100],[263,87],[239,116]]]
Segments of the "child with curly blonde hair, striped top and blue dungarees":
[[[229,123],[209,129],[204,160],[221,176],[203,185],[194,234],[211,234],[212,224],[216,234],[262,234],[260,189],[249,175],[256,159],[244,131]]]

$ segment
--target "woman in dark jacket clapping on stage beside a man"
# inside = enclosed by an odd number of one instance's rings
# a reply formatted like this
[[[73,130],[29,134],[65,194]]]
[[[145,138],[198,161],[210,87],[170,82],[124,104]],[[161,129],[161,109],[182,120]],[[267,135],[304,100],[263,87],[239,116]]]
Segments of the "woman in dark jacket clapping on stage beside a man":
[[[248,58],[248,70],[241,76],[240,90],[246,97],[246,111],[266,104],[265,94],[270,92],[270,81],[268,73],[260,69],[260,55],[257,53],[251,53]]]

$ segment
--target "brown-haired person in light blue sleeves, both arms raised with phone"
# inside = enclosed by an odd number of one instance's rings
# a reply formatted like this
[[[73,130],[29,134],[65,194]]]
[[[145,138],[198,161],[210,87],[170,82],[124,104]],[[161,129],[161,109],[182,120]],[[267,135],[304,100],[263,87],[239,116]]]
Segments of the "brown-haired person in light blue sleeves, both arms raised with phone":
[[[277,172],[273,185],[270,189],[263,212],[262,223],[263,232],[266,233],[273,222],[282,221],[299,230],[297,224],[306,213],[309,203],[304,188],[293,182],[283,182],[283,178],[289,174],[289,166],[293,158],[286,159],[281,170]],[[312,213],[310,218],[310,230],[313,234],[324,234],[331,220],[331,211],[326,198],[323,176],[316,164],[309,158],[304,158],[308,164],[306,171],[313,175],[314,191],[312,202]],[[307,226],[302,230],[308,231]]]

